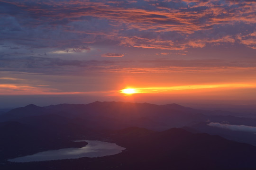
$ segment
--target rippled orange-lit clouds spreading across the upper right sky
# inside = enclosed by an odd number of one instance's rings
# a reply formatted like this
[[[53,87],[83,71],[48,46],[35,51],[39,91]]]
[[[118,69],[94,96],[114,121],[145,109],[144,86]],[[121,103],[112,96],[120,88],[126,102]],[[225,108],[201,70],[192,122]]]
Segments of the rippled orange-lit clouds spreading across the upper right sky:
[[[16,5],[22,11],[28,11],[31,15],[37,16],[38,19],[35,26],[40,25],[40,22],[48,22],[51,26],[61,25],[63,27],[62,31],[65,33],[77,35],[81,41],[77,43],[94,44],[104,42],[107,39],[117,41],[121,46],[184,50],[191,47],[202,48],[207,43],[216,45],[222,42],[238,42],[249,48],[256,48],[254,43],[255,36],[246,33],[245,28],[240,31],[243,34],[247,34],[241,35],[246,36],[242,40],[235,38],[239,34],[235,31],[231,33],[221,30],[225,26],[236,27],[242,24],[255,24],[256,3],[254,1],[226,0],[219,4],[211,0],[181,0],[172,1],[177,5],[172,7],[168,6],[169,0],[163,1],[166,6],[162,3],[148,1],[146,2],[148,8],[141,7],[137,3],[134,6],[129,6],[122,1],[91,2],[72,0],[59,2],[52,0],[34,2],[32,3],[33,8],[31,8],[30,3],[22,1],[5,2]],[[130,1],[129,3],[134,2]],[[43,19],[40,20],[40,17],[43,17]],[[92,17],[98,20],[98,23],[107,20],[106,26],[111,26],[111,28],[98,28],[98,30],[95,30],[94,28],[101,27],[99,24],[92,27],[82,25],[79,27],[77,23],[79,21],[83,23],[84,20],[82,18],[84,17]],[[65,22],[64,24],[59,24],[62,19],[65,19],[68,24]],[[75,26],[71,24],[72,22],[75,22]],[[76,26],[78,26],[78,29]],[[105,28],[102,25],[103,27]],[[139,32],[139,34],[133,34],[132,31],[129,32],[130,30]],[[163,35],[165,33],[172,33],[172,35],[165,36]],[[221,34],[220,36],[215,36],[216,33]],[[173,36],[177,34],[179,35],[178,37]],[[74,39],[71,41],[75,42]],[[58,43],[66,46],[65,43],[68,42],[70,41],[59,41]],[[73,51],[81,51],[81,49],[74,48]],[[107,55],[103,56],[108,57]]]

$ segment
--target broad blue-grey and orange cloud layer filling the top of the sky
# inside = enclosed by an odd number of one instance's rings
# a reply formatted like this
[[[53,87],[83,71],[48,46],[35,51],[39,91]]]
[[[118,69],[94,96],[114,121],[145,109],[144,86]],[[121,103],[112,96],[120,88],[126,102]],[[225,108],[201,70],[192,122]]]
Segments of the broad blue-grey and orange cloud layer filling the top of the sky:
[[[10,0],[0,6],[0,37],[13,47],[82,52],[89,49],[76,47],[185,50],[237,43],[256,48],[253,0]]]

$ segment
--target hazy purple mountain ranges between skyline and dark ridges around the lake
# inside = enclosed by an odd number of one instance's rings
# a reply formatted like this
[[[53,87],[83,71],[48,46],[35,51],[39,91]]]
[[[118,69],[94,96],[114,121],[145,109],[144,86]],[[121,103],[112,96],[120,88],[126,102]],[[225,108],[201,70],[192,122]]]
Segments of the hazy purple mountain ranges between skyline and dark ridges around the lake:
[[[126,127],[144,127],[157,131],[187,127],[191,132],[219,135],[256,145],[254,133],[236,132],[207,125],[210,122],[224,122],[255,127],[256,119],[226,115],[232,113],[221,110],[215,111],[192,109],[174,103],[155,105],[97,101],[89,104],[58,104],[46,107],[30,104],[0,115],[0,121],[17,121],[71,138],[90,136],[90,139],[92,136],[97,138],[94,134]]]

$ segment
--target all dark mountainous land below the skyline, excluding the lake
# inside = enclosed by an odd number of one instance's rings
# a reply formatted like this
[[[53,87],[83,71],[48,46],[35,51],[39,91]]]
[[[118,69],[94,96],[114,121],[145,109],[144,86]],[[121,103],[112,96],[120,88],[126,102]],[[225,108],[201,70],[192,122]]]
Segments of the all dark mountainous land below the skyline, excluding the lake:
[[[49,166],[65,170],[60,162],[67,167],[75,162],[79,165],[77,170],[85,164],[95,170],[102,167],[106,170],[111,167],[117,170],[256,168],[256,119],[231,115],[229,111],[198,110],[178,104],[93,102],[46,107],[30,104],[0,114],[0,168],[15,170],[23,166],[32,170],[40,165],[42,170]],[[6,161],[86,144],[72,142],[79,139],[110,141],[127,150],[118,155],[73,162]],[[109,163],[99,167],[95,165],[99,161]]]

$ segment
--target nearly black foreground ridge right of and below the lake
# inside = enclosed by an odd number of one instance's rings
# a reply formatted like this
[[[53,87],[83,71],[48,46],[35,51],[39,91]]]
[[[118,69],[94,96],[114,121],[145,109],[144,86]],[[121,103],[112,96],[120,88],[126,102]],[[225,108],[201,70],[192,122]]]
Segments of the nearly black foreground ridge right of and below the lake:
[[[245,170],[256,169],[256,147],[180,128],[130,127],[109,134],[127,149],[99,158],[0,165],[1,170]]]

